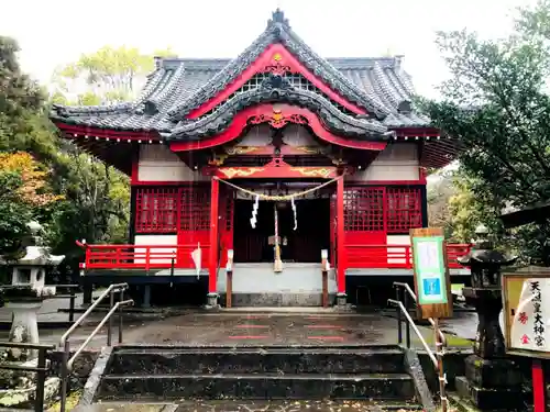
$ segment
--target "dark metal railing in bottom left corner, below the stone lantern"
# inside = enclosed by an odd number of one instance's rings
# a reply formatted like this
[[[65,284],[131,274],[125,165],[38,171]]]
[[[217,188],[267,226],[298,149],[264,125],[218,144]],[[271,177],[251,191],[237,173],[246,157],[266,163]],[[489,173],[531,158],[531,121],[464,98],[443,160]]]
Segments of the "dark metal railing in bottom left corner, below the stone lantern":
[[[28,370],[31,372],[36,372],[36,394],[34,399],[34,411],[44,411],[44,390],[46,385],[46,372],[50,369],[50,364],[46,360],[46,355],[48,350],[55,349],[54,345],[44,344],[29,344],[20,342],[0,342],[0,347],[12,347],[18,349],[30,349],[38,350],[38,358],[36,359],[36,366],[23,366],[23,365],[6,365],[0,364],[0,369],[6,370]]]

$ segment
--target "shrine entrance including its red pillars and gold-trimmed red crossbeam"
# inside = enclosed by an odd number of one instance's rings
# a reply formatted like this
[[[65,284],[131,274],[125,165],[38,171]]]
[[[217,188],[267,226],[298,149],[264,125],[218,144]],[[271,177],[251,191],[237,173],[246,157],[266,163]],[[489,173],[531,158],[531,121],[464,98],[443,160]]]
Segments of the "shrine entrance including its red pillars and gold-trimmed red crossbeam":
[[[280,157],[209,172],[210,221],[218,218],[210,230],[209,304],[218,297],[223,302],[228,290],[235,307],[319,307],[323,297],[332,304],[343,293],[343,266],[336,267],[343,240],[343,226],[336,224],[343,222],[343,172],[332,166],[293,166]]]

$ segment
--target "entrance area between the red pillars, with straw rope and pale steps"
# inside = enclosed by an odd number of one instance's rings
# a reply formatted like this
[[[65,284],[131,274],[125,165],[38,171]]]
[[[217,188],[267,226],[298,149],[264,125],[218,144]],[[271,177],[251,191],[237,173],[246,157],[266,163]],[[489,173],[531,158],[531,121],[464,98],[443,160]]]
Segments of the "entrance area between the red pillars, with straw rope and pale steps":
[[[232,305],[322,304],[322,250],[330,256],[336,249],[331,202],[340,179],[319,180],[220,179],[232,189]],[[217,277],[222,302],[227,281],[223,275]],[[333,268],[326,288],[332,302],[337,293]]]

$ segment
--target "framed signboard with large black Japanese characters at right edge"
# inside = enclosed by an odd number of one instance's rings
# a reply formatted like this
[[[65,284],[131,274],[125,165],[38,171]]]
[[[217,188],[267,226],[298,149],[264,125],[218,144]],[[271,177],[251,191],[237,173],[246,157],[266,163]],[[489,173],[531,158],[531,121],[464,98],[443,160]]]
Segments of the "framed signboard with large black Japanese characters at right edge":
[[[506,352],[550,358],[550,268],[503,274]]]

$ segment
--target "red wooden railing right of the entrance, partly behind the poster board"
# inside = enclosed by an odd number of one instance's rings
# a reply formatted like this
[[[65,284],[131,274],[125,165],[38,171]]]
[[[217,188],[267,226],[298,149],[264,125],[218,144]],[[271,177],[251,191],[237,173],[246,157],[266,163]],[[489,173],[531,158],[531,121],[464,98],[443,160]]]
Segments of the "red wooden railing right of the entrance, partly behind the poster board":
[[[447,258],[449,268],[462,268],[457,258],[464,256],[471,245],[448,244]],[[409,245],[345,245],[345,267],[413,269],[413,252]]]

